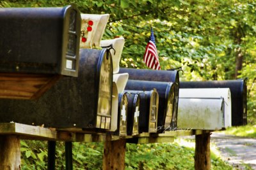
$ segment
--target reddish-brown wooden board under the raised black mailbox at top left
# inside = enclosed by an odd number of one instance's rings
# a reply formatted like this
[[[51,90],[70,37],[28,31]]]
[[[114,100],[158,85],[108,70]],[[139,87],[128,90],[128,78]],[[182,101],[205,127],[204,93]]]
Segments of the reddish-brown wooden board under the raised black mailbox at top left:
[[[58,74],[0,73],[0,98],[35,99],[60,77]]]

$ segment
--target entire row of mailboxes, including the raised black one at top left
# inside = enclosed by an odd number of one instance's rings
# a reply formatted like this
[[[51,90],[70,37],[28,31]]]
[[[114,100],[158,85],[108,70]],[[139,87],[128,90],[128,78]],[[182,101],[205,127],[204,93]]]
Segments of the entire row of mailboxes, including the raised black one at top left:
[[[74,6],[0,9],[0,72],[65,75],[36,100],[0,99],[0,122],[120,136],[246,124],[244,80],[179,82],[179,71],[119,69],[113,56],[121,55],[124,39],[120,48],[105,40],[101,46],[112,46],[82,49],[102,33],[89,36],[100,23],[80,16]]]

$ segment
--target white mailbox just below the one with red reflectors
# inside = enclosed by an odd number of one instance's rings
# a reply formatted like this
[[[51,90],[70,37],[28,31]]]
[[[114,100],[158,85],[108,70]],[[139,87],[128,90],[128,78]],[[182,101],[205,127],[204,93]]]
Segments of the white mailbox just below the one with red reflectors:
[[[112,45],[114,48],[114,50],[110,50],[110,53],[113,61],[113,74],[116,74],[119,72],[119,62],[124,48],[124,38],[120,37],[100,41],[100,46],[102,47],[109,45]]]

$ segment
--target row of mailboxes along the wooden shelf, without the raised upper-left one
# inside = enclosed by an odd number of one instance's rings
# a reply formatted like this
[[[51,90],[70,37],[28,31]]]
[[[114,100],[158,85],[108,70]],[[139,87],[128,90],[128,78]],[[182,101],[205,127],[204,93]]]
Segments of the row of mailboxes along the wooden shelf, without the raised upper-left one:
[[[0,99],[0,121],[120,135],[246,124],[244,80],[179,82],[179,71],[121,68],[129,80],[113,83],[109,50],[81,49],[80,57],[78,77],[61,78],[39,99]],[[215,89],[191,89],[205,87]]]

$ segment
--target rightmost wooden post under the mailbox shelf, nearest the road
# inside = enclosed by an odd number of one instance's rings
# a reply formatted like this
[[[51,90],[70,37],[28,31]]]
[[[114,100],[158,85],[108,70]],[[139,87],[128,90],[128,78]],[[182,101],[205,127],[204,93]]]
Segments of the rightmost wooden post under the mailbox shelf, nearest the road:
[[[195,170],[211,169],[210,135],[209,132],[196,135]]]

